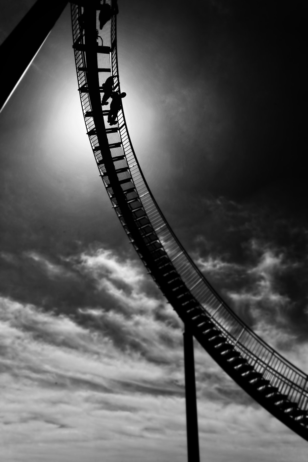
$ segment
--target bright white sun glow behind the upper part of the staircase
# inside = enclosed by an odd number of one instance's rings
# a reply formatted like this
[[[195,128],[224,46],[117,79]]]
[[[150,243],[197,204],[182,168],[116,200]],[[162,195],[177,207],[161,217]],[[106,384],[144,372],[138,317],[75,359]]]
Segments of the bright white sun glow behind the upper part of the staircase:
[[[149,172],[150,178],[151,165],[156,157],[157,116],[149,95],[140,92],[135,83],[131,85],[126,81],[121,79],[121,91],[127,93],[122,99],[127,128],[140,165]],[[49,89],[48,97],[46,95],[48,112],[45,114],[43,146],[38,159],[48,169],[48,179],[44,181],[49,182],[51,176],[68,184],[86,176],[91,182],[91,178],[97,175],[97,166],[86,134],[77,77],[70,76],[62,88],[55,90]],[[50,187],[54,188],[54,185],[55,182],[51,181]]]

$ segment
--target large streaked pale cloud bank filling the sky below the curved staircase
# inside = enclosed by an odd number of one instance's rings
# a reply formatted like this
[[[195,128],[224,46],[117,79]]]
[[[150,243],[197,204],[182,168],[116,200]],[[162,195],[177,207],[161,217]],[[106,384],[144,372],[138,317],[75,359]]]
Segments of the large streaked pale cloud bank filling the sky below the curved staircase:
[[[26,258],[55,284],[61,273],[74,284],[75,275],[87,280],[97,294],[108,292],[109,305],[81,304],[68,316],[56,314],[56,307],[46,311],[1,298],[4,460],[98,461],[103,451],[112,462],[126,454],[132,461],[180,461],[186,451],[182,326],[143,268],[106,249],[56,263],[35,252]],[[273,258],[260,260],[258,274],[272,274],[274,267]],[[235,441],[238,460],[247,460],[260,441],[268,444],[269,433],[276,443],[296,442],[298,460],[305,460],[301,440],[255,405],[197,344],[195,362],[200,447],[213,460],[221,438],[220,460],[227,460]],[[275,460],[277,453],[269,454]]]

